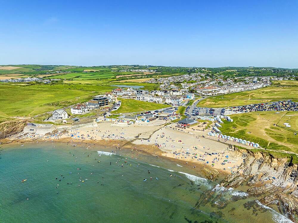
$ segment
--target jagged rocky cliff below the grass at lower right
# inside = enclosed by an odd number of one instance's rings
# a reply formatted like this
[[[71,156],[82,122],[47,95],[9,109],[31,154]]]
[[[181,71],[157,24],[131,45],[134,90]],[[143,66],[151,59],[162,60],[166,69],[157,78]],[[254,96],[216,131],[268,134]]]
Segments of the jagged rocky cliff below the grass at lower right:
[[[264,152],[252,153],[234,148],[243,157],[239,170],[228,175],[221,186],[237,188],[254,186],[247,192],[259,197],[266,206],[275,205],[289,219],[297,222],[298,216],[298,166],[289,164],[287,158],[277,159]]]

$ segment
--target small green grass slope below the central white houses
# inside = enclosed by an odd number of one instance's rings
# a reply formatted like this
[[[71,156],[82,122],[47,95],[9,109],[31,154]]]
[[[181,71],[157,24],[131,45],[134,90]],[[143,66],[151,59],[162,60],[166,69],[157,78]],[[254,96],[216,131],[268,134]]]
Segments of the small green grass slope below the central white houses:
[[[142,112],[142,111],[149,111],[149,110],[156,110],[156,109],[170,107],[169,105],[143,102],[143,101],[138,101],[134,99],[118,98],[118,100],[121,101],[121,106],[118,110],[112,111],[113,114]]]

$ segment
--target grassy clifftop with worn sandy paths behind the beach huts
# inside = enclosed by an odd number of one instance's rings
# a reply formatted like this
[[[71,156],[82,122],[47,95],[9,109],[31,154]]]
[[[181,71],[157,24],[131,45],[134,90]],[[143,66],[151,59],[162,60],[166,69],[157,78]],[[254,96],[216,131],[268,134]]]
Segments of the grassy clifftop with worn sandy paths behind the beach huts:
[[[294,135],[298,112],[251,112],[230,116],[233,122],[224,120],[220,128],[222,134],[258,143],[263,148],[298,153],[298,136]],[[293,124],[291,128],[283,125],[285,120],[290,123],[289,117]]]

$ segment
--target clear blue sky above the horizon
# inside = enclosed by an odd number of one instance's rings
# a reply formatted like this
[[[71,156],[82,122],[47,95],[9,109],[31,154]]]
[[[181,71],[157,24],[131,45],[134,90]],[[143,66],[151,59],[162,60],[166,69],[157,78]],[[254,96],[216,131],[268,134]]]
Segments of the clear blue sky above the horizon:
[[[298,68],[298,1],[0,1],[0,64]]]

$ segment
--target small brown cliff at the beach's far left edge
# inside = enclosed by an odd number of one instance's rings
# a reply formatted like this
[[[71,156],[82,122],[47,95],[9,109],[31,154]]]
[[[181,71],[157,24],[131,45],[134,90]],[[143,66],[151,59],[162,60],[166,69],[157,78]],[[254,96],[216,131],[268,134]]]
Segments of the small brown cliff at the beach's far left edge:
[[[28,122],[28,120],[18,120],[0,124],[0,139],[22,132]]]

